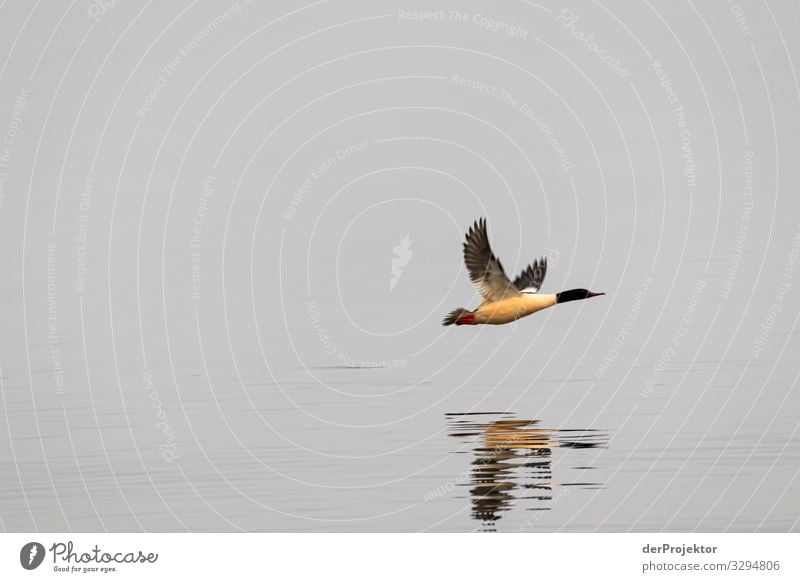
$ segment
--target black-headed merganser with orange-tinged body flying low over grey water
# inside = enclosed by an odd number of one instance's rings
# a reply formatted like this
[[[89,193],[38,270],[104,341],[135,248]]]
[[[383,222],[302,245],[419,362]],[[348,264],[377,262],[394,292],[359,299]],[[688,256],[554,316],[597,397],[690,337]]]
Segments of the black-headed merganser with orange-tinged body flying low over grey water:
[[[476,220],[467,232],[464,263],[469,278],[483,297],[483,303],[472,311],[463,307],[454,309],[442,320],[442,325],[500,325],[556,304],[605,295],[587,289],[539,293],[547,273],[547,257],[534,261],[512,283],[492,252],[483,218]]]

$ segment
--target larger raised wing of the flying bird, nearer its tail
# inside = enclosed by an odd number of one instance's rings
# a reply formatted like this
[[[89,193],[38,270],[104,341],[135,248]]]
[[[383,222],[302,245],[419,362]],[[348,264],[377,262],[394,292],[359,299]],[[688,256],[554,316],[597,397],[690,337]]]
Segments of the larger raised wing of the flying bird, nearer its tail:
[[[467,232],[464,243],[464,264],[469,278],[486,301],[499,301],[520,295],[503,271],[503,265],[494,256],[486,234],[486,220],[475,221]]]

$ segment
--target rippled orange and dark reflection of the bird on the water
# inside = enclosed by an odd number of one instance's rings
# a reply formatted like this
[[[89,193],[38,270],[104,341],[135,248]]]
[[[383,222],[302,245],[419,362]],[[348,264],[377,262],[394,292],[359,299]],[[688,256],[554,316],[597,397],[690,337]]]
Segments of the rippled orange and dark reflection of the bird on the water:
[[[469,487],[472,517],[482,522],[484,531],[494,531],[500,514],[512,509],[517,501],[529,510],[549,510],[555,488],[593,485],[554,482],[551,457],[557,448],[602,446],[605,440],[596,431],[540,428],[537,420],[501,418],[481,423],[464,420],[463,414],[448,416],[454,430],[450,436],[477,444],[473,448]]]

